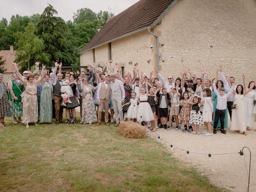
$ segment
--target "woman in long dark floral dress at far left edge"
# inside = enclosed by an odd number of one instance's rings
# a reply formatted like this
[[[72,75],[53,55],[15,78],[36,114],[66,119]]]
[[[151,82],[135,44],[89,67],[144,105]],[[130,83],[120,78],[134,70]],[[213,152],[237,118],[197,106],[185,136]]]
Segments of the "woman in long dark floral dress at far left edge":
[[[12,115],[9,101],[8,101],[8,89],[3,82],[4,75],[0,73],[0,126],[7,125],[4,122],[4,117],[10,117]]]

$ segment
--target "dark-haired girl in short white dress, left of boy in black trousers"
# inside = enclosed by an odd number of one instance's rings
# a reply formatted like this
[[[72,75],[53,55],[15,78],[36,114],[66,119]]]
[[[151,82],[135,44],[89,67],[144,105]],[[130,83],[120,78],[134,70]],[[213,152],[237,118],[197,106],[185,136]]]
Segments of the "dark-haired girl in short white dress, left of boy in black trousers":
[[[203,132],[205,136],[211,136],[211,122],[212,122],[212,113],[213,113],[213,105],[212,105],[212,91],[210,88],[204,89],[204,107],[203,107],[203,122],[206,123],[206,132]]]

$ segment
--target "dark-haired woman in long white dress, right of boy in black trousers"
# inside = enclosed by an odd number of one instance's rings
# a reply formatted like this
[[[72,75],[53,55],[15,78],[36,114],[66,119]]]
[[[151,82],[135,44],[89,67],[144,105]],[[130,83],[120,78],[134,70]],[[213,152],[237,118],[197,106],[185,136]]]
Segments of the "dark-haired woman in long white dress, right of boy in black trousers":
[[[231,118],[231,126],[230,130],[235,130],[234,133],[243,132],[244,135],[246,133],[245,126],[245,112],[244,112],[244,88],[242,85],[238,85],[236,90],[234,91],[235,99],[234,104],[236,104],[237,108],[232,109],[232,118]]]

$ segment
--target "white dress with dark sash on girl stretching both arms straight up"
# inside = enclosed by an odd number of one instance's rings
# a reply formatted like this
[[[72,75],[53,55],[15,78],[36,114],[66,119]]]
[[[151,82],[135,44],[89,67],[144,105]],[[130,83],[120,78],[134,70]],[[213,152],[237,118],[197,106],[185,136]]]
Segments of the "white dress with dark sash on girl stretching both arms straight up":
[[[147,100],[148,100],[148,96],[146,94],[140,95],[140,104],[138,107],[137,122],[142,122],[142,121],[149,122],[154,120],[154,114]]]

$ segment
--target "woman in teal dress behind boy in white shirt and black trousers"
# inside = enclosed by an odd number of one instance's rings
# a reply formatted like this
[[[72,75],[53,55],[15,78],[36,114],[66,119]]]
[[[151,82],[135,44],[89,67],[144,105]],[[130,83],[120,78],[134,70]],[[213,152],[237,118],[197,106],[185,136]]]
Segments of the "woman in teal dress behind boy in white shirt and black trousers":
[[[217,80],[217,82],[216,82],[217,91],[219,91],[219,89],[221,87],[224,87],[223,81],[222,80]],[[227,94],[227,93],[228,93],[228,91],[225,89],[225,94]],[[212,99],[214,101],[214,104],[213,104],[213,122],[214,122],[215,111],[216,111],[217,100],[218,100],[218,96],[215,94],[214,91],[212,92]],[[228,110],[226,110],[226,114],[225,114],[225,118],[224,118],[224,128],[228,128]],[[220,131],[220,119],[218,121],[217,131]]]

